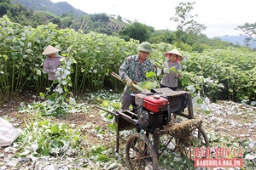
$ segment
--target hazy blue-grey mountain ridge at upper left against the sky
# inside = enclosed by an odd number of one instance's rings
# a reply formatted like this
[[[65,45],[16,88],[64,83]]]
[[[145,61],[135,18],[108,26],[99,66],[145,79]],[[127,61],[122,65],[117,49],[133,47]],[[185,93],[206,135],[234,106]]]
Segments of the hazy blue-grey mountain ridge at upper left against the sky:
[[[20,3],[26,6],[26,8],[32,8],[35,11],[49,11],[53,14],[61,16],[62,14],[74,14],[76,16],[88,15],[84,11],[73,8],[67,2],[52,3],[50,0],[11,0],[12,3]]]

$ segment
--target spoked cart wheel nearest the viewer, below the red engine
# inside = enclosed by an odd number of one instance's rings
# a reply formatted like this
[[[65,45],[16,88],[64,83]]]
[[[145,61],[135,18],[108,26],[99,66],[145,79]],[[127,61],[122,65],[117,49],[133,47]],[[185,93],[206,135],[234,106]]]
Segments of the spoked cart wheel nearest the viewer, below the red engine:
[[[158,158],[153,144],[141,133],[133,133],[125,147],[126,164],[130,170],[158,168]]]

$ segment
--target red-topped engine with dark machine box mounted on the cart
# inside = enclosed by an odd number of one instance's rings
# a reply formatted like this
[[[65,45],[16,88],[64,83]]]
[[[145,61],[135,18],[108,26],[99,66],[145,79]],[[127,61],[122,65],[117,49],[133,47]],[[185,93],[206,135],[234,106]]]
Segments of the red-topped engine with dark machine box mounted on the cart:
[[[170,88],[154,90],[152,94],[131,94],[131,105],[142,127],[162,128],[171,121],[172,113],[187,107],[187,92]]]

